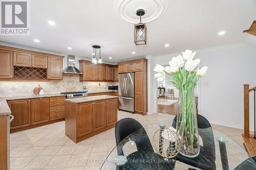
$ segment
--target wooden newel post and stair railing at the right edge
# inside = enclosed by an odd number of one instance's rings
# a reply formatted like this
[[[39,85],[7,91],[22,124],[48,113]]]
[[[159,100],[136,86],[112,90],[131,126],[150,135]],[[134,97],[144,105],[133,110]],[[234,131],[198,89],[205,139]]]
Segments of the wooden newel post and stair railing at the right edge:
[[[250,136],[250,124],[249,124],[249,94],[251,91],[254,92],[254,139],[256,139],[255,136],[255,112],[256,112],[256,106],[255,106],[255,91],[256,91],[256,86],[249,89],[249,84],[244,84],[244,137],[249,138]]]

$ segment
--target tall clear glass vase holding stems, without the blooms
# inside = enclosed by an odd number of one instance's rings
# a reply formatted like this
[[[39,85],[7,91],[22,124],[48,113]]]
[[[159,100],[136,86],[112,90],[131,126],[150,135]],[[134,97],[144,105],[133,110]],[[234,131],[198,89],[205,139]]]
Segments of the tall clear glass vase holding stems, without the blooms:
[[[181,139],[181,150],[179,153],[183,156],[194,158],[200,152],[194,89],[180,91],[179,98],[176,126],[177,135]]]

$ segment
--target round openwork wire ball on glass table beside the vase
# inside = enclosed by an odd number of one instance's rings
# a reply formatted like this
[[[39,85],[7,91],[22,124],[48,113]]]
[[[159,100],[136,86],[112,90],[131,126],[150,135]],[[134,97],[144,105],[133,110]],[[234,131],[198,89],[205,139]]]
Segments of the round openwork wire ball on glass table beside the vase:
[[[160,128],[153,136],[153,147],[155,151],[165,158],[175,157],[181,149],[181,141],[173,127]]]

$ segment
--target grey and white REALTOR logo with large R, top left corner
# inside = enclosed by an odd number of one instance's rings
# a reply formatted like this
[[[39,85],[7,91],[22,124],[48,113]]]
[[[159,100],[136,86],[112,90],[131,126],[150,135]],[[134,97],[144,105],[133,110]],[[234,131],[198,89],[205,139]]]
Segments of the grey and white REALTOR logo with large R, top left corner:
[[[29,35],[28,0],[1,0],[1,35]]]

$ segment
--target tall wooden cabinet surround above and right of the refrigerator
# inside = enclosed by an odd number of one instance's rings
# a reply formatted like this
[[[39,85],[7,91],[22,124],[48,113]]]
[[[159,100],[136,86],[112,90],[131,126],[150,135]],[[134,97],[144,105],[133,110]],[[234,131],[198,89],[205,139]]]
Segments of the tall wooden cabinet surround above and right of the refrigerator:
[[[138,59],[118,63],[119,73],[135,72],[134,103],[135,113],[145,115],[147,112],[147,60]]]

